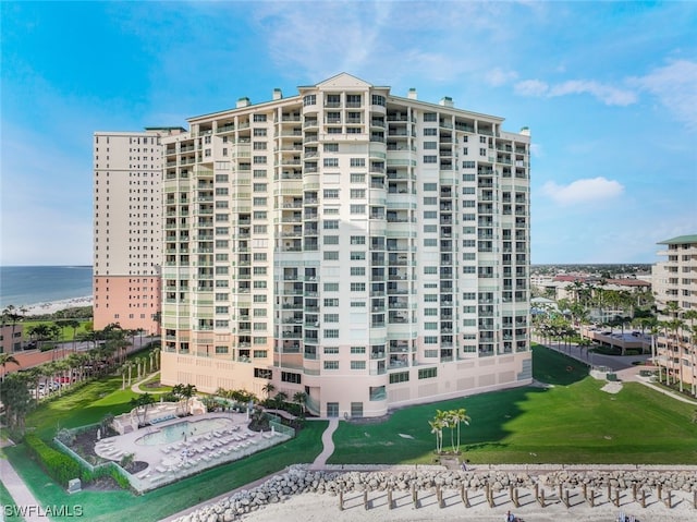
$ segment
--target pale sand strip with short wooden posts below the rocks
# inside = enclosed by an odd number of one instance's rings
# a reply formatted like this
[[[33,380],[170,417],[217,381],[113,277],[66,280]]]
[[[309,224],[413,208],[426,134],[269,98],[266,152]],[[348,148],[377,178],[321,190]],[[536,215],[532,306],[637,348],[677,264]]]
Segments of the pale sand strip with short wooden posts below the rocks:
[[[525,522],[559,522],[573,520],[575,522],[612,522],[620,513],[634,515],[637,522],[686,522],[697,520],[697,510],[692,505],[692,494],[673,493],[673,507],[669,509],[663,501],[656,497],[656,493],[647,496],[647,507],[641,508],[635,502],[631,491],[623,491],[620,507],[608,501],[603,491],[597,491],[596,506],[590,507],[583,498],[580,490],[572,491],[571,508],[566,508],[557,496],[548,498],[549,505],[542,508],[535,500],[533,490],[518,493],[519,508],[515,508],[508,491],[494,495],[493,508],[489,507],[484,491],[470,493],[470,507],[465,508],[458,491],[443,489],[445,507],[438,506],[436,493],[421,493],[419,508],[414,508],[409,491],[393,493],[393,509],[388,509],[387,493],[374,491],[368,494],[369,509],[365,509],[362,493],[351,493],[344,496],[344,509],[339,509],[339,497],[319,494],[304,494],[291,497],[283,503],[267,506],[256,512],[245,515],[242,520],[254,522],[332,522],[354,521],[453,521],[467,520],[475,522],[503,522],[506,512]]]

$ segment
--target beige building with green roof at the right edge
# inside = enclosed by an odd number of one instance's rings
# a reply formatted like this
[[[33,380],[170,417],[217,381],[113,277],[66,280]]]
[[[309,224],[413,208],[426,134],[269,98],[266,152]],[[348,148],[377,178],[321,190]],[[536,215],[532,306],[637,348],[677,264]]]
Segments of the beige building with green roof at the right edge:
[[[697,234],[658,244],[668,250],[658,253],[667,258],[652,270],[656,303],[664,321],[657,340],[657,363],[669,380],[688,384],[697,393],[697,317],[692,317],[697,311]]]

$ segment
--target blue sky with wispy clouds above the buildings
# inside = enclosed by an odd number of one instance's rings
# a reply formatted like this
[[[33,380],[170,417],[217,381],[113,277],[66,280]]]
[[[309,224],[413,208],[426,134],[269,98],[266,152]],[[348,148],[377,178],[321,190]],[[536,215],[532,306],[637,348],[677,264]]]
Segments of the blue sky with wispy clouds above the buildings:
[[[91,135],[347,72],[533,135],[533,263],[697,233],[697,2],[11,2],[1,265],[91,264]]]

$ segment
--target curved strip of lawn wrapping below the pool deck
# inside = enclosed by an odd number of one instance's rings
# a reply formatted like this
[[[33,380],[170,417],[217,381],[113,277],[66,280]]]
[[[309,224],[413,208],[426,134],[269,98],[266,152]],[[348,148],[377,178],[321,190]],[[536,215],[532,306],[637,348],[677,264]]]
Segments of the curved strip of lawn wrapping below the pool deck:
[[[244,460],[224,464],[164,486],[142,496],[130,491],[88,491],[68,495],[30,460],[23,446],[5,448],[12,465],[42,506],[81,505],[90,522],[137,520],[157,521],[249,482],[283,470],[297,462],[313,462],[320,453],[321,434],[327,422],[308,422],[292,440],[255,453]],[[73,518],[74,519],[74,518]],[[73,520],[54,517],[52,520]]]

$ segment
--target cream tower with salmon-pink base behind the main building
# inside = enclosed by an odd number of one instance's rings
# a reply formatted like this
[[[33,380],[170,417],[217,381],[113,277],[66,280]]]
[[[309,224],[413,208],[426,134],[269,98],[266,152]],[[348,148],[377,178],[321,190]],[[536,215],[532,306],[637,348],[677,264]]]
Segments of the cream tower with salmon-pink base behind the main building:
[[[94,325],[159,332],[162,150],[184,131],[94,135]]]

